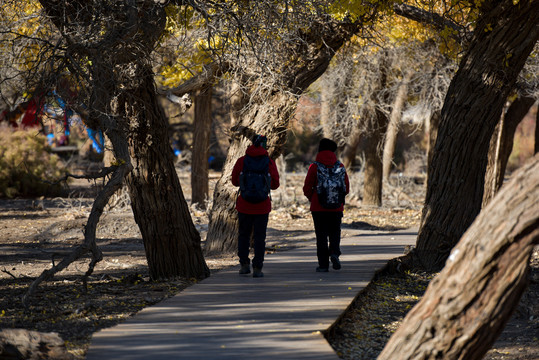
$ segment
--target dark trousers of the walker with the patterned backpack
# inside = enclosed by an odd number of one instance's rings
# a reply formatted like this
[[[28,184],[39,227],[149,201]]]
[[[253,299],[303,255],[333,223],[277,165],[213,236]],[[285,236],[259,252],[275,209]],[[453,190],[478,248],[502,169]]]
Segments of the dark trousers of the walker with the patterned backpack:
[[[312,215],[316,234],[318,266],[328,268],[329,257],[341,255],[342,211],[313,211]]]

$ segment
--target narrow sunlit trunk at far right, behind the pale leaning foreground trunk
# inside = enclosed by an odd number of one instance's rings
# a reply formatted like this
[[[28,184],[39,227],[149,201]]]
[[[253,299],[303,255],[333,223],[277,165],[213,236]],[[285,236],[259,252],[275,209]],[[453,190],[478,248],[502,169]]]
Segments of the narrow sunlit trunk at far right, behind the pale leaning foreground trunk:
[[[494,135],[490,139],[482,207],[490,202],[503,185],[505,169],[513,150],[515,131],[534,102],[535,99],[530,97],[516,98],[496,126]]]

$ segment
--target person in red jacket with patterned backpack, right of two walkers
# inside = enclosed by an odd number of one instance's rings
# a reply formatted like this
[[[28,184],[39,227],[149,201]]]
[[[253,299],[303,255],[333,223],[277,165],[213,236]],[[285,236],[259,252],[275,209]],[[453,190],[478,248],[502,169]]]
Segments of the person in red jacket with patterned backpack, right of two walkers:
[[[320,140],[316,162],[309,166],[303,185],[303,194],[311,202],[310,210],[313,216],[314,232],[316,234],[316,255],[318,257],[317,272],[327,272],[330,259],[333,264],[333,269],[339,270],[341,268],[339,256],[341,255],[341,222],[344,211],[344,202],[334,209],[324,208],[318,199],[316,190],[318,185],[317,163],[330,168],[334,167],[337,163],[337,156],[335,155],[336,150],[337,144],[334,141],[330,139]],[[340,166],[344,167],[342,164]],[[350,182],[346,170],[344,175],[346,194],[348,194],[350,192]]]

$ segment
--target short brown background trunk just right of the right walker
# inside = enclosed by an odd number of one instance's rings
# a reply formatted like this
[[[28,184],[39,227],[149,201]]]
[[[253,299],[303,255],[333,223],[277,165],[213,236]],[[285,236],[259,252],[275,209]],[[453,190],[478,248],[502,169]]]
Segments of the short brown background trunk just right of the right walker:
[[[365,185],[363,205],[382,205],[382,144],[387,129],[387,116],[376,110],[375,124],[365,134]]]

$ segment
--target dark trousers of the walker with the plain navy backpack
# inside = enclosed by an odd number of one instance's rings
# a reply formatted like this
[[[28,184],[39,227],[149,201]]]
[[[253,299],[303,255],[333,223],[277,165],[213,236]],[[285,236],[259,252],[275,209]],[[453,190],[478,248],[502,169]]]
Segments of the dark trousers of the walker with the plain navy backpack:
[[[266,251],[266,230],[268,228],[269,214],[238,213],[240,231],[238,236],[238,257],[240,264],[249,264],[249,245],[251,233],[253,234],[255,256],[253,267],[262,269],[264,252]]]

